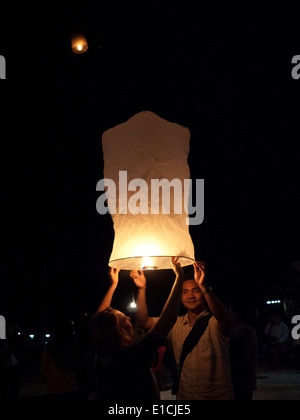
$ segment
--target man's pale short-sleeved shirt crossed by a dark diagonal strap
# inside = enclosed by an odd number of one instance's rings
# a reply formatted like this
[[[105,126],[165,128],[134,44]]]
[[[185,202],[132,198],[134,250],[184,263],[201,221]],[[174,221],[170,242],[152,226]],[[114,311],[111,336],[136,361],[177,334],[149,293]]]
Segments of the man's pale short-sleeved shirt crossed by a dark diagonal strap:
[[[202,312],[199,317],[206,315]],[[188,314],[177,318],[168,338],[172,342],[176,364],[185,338],[192,329]],[[233,387],[229,361],[229,338],[221,333],[212,316],[198,344],[183,363],[178,400],[233,400]]]

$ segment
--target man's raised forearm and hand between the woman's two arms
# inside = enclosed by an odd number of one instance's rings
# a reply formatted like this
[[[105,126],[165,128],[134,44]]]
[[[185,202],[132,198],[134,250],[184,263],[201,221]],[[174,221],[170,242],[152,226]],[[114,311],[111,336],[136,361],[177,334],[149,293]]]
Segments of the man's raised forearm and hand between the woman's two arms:
[[[155,324],[155,321],[148,314],[148,306],[146,301],[146,277],[143,270],[132,270],[130,277],[133,279],[135,285],[138,288],[137,295],[137,312],[136,312],[136,324],[139,327],[150,330]]]

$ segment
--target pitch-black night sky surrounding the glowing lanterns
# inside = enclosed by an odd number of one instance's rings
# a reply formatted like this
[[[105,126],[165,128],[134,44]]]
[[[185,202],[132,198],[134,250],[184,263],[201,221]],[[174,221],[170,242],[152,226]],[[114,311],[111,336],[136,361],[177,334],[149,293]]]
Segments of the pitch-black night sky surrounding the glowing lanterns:
[[[61,311],[95,309],[113,241],[110,217],[95,208],[101,136],[147,109],[191,131],[191,177],[205,179],[205,221],[190,232],[211,283],[226,299],[263,299],[300,259],[295,11],[106,3],[38,12],[26,5],[2,16],[10,24],[0,50],[7,61],[0,313],[48,322]],[[78,29],[90,48],[75,56],[70,34]],[[116,292],[121,307],[135,291],[127,277]],[[154,312],[172,278],[151,273]]]

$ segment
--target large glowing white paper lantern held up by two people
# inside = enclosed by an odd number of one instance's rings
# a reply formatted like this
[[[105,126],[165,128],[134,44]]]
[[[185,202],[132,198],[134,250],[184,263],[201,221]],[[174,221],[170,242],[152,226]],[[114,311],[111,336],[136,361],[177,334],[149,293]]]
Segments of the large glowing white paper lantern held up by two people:
[[[172,256],[182,266],[193,263],[184,188],[189,140],[188,128],[150,111],[103,134],[103,182],[115,231],[111,267],[167,269]]]

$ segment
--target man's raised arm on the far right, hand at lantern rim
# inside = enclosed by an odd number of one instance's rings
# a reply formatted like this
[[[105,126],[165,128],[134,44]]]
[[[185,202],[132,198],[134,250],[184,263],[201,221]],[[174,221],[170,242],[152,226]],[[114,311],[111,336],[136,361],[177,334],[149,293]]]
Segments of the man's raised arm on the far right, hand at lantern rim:
[[[229,337],[231,333],[231,325],[229,313],[220,299],[209,289],[206,280],[206,268],[203,262],[197,261],[194,263],[194,278],[195,282],[200,287],[204,294],[208,307],[218,322],[219,328],[225,337]]]

